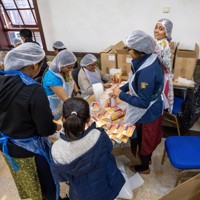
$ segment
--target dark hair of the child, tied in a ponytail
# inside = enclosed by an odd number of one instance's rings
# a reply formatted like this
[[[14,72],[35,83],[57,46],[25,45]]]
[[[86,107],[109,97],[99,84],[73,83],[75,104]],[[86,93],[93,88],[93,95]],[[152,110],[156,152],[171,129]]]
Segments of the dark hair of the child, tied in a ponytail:
[[[73,97],[63,104],[64,132],[69,140],[75,140],[84,129],[90,118],[90,108],[86,100]]]

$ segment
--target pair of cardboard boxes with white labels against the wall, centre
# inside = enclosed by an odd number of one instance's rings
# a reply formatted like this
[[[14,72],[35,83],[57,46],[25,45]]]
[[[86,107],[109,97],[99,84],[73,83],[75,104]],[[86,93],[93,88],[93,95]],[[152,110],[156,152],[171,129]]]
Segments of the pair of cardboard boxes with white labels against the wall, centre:
[[[125,44],[120,41],[100,53],[101,70],[109,73],[111,68],[122,69],[122,75],[127,76],[131,66],[131,57],[126,53]]]

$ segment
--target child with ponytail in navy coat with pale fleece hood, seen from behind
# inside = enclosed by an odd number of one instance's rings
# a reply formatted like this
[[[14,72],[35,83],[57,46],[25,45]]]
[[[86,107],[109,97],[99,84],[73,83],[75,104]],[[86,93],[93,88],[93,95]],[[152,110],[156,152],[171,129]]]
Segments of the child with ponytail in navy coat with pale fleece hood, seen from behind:
[[[74,97],[63,104],[65,135],[52,146],[54,171],[70,184],[70,200],[113,200],[125,183],[112,155],[112,142],[90,120],[89,104]]]

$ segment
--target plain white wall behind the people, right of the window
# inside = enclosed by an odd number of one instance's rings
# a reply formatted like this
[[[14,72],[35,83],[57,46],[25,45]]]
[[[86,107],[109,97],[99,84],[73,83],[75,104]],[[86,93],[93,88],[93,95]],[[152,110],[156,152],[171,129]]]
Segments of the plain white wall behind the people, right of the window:
[[[133,30],[153,36],[163,17],[174,24],[173,41],[189,49],[200,44],[200,0],[38,0],[38,7],[48,50],[61,40],[72,51],[98,53]]]

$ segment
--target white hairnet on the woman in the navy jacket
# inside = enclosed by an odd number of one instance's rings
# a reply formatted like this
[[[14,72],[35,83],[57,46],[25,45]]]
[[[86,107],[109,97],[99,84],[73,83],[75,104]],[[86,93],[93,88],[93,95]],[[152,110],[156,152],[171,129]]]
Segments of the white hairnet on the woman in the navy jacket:
[[[126,46],[139,52],[151,54],[155,50],[156,42],[151,36],[143,31],[137,30],[127,37]]]

